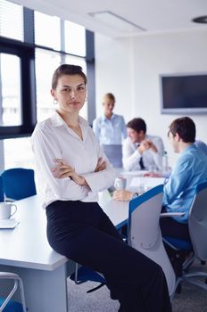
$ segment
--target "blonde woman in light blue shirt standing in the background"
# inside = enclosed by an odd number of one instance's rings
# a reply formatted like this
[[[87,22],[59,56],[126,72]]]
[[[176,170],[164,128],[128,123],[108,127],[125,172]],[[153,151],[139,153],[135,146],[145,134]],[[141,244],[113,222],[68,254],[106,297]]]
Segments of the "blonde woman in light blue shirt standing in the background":
[[[93,130],[104,153],[114,168],[122,167],[121,142],[127,137],[127,128],[123,116],[114,114],[115,96],[105,94],[103,99],[104,115],[93,122]]]

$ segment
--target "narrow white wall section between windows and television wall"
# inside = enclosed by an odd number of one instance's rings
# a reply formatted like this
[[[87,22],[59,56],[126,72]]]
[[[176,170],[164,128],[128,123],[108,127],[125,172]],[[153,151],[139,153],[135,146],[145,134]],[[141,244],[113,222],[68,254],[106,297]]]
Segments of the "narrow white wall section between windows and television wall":
[[[133,53],[131,47],[130,39],[112,39],[95,35],[97,116],[103,112],[104,94],[112,92],[116,98],[114,112],[128,118],[133,117],[134,84],[132,83]]]

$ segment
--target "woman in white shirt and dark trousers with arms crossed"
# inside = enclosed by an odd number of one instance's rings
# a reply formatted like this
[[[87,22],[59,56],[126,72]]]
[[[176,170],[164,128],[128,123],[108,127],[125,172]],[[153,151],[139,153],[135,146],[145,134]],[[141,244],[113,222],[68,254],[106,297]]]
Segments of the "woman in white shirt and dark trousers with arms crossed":
[[[122,242],[96,202],[97,191],[112,185],[114,172],[87,121],[79,117],[86,85],[79,66],[55,70],[51,94],[59,107],[32,135],[48,242],[67,258],[103,273],[112,297],[120,301],[119,311],[169,312],[161,267]]]

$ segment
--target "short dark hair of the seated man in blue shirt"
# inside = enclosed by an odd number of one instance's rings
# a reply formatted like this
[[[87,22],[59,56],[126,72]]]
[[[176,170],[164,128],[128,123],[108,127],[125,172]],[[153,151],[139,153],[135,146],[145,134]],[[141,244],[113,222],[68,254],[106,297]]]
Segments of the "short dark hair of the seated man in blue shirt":
[[[195,122],[189,117],[182,117],[173,120],[169,126],[169,129],[173,136],[178,133],[183,142],[195,142]]]

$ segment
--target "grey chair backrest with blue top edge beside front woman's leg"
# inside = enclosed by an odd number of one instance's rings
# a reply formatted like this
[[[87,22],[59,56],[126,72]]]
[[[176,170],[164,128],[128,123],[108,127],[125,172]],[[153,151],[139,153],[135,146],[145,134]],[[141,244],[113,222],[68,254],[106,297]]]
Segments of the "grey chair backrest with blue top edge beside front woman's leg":
[[[129,202],[128,244],[162,267],[172,295],[176,276],[161,239],[162,195],[163,185],[158,185]]]

